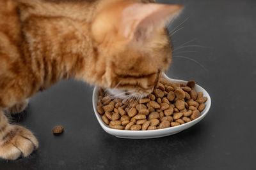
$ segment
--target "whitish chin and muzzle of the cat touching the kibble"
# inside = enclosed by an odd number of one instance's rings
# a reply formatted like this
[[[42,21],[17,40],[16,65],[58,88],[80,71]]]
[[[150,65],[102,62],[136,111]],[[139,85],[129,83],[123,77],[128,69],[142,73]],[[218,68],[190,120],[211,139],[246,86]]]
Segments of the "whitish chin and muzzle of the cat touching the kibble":
[[[134,92],[134,90],[123,90],[123,89],[107,89],[108,93],[114,96],[115,98],[120,98],[120,99],[128,99],[131,97],[136,97],[136,98],[143,98],[148,96],[148,94],[141,94],[139,92]]]

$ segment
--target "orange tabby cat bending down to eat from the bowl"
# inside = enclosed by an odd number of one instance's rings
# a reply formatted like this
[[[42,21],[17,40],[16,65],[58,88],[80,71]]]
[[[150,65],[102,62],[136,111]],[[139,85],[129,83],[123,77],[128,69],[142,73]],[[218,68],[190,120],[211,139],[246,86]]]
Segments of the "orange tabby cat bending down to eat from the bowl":
[[[1,159],[38,148],[33,133],[9,124],[6,114],[20,113],[29,97],[60,80],[152,92],[172,58],[165,24],[182,10],[152,2],[0,0]]]

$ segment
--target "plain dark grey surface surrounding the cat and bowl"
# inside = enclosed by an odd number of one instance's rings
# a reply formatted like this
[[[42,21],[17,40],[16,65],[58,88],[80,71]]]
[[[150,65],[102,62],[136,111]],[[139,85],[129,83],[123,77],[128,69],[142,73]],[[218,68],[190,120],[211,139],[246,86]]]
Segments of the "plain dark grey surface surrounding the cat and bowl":
[[[255,169],[256,1],[182,3],[173,22],[168,76],[195,80],[212,98],[202,122],[173,136],[119,139],[104,132],[92,108],[93,87],[61,81],[30,100],[20,124],[40,142],[36,152],[0,169]],[[193,41],[191,41],[193,40]],[[185,44],[184,44],[185,43]],[[52,135],[63,125],[61,136]]]

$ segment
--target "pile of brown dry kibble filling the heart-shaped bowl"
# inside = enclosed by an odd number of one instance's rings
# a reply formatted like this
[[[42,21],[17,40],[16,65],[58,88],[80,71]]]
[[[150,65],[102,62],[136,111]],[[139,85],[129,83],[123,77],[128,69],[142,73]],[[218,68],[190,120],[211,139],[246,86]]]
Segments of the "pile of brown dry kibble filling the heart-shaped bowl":
[[[148,97],[122,100],[99,90],[97,111],[112,129],[145,131],[163,129],[200,117],[207,97],[196,92],[195,81],[173,83],[164,78]]]

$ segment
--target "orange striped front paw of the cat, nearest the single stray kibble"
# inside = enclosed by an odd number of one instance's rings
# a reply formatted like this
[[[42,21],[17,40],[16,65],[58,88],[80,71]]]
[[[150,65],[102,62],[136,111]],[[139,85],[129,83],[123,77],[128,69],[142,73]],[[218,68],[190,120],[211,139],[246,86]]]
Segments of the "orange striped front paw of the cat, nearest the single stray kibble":
[[[4,112],[0,110],[0,158],[15,160],[27,157],[38,148],[38,141],[28,129],[10,125]]]

